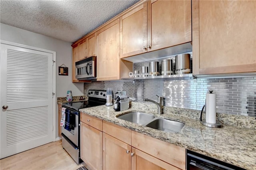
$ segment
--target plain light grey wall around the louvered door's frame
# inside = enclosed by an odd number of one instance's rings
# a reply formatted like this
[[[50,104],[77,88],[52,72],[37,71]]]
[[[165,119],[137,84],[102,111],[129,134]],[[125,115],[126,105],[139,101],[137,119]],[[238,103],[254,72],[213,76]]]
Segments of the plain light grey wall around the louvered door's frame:
[[[72,83],[71,43],[2,23],[0,25],[0,40],[56,51],[56,99],[57,97],[65,97],[68,90],[72,91],[73,96],[84,95],[84,83]],[[68,76],[58,75],[58,67],[62,64],[68,67]],[[58,106],[56,113],[58,113]],[[58,125],[57,120],[58,114],[56,114],[56,125]],[[57,129],[56,136],[58,136]]]

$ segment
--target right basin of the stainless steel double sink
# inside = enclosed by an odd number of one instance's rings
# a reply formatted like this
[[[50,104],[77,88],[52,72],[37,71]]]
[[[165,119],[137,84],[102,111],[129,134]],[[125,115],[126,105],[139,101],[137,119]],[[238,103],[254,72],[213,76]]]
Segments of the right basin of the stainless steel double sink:
[[[165,132],[179,132],[184,127],[184,123],[156,118],[148,123],[146,127],[162,130]]]

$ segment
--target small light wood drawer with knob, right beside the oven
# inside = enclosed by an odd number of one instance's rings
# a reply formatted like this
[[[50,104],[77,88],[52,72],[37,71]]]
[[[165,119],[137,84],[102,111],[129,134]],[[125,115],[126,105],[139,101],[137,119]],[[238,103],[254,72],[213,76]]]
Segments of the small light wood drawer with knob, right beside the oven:
[[[102,131],[102,120],[80,112],[80,121]]]

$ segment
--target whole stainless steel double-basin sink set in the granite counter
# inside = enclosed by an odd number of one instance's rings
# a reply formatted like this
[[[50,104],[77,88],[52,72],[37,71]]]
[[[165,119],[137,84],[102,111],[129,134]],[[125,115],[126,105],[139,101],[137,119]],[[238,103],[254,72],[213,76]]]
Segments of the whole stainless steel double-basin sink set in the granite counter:
[[[179,132],[184,127],[184,123],[141,112],[131,112],[117,118],[165,132]]]

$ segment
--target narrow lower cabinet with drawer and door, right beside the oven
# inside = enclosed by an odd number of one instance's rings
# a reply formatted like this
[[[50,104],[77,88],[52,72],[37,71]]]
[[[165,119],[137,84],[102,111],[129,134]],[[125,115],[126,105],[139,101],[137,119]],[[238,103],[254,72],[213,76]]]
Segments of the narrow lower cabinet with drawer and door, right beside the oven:
[[[80,116],[80,158],[91,169],[102,170],[102,120]]]

